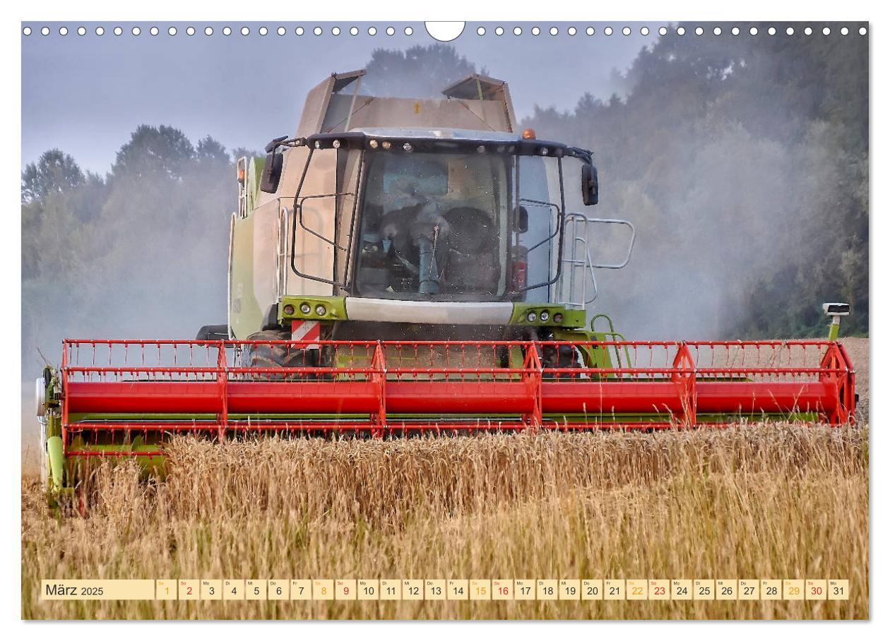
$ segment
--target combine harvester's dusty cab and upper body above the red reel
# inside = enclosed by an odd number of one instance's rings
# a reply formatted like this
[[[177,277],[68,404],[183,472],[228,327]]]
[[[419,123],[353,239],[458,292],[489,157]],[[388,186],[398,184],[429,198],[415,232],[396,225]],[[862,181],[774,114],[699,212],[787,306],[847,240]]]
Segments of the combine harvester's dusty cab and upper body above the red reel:
[[[230,337],[508,341],[585,327],[595,270],[624,267],[635,235],[587,212],[591,152],[518,132],[500,80],[420,100],[362,95],[363,75],[330,76],[294,137],[239,160]],[[593,260],[596,225],[625,230],[620,260]]]

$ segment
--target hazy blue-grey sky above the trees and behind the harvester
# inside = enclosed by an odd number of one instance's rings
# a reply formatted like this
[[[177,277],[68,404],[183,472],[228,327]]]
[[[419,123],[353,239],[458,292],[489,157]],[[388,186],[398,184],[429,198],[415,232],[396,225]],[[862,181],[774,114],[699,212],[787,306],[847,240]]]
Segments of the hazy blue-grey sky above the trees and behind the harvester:
[[[293,133],[303,108],[305,93],[333,71],[362,68],[376,48],[406,49],[414,44],[436,42],[423,23],[24,23],[32,28],[21,36],[21,161],[31,162],[48,148],[71,154],[85,169],[104,173],[115,152],[139,124],[172,124],[192,140],[207,134],[227,148],[263,148],[271,138]],[[95,28],[105,29],[102,36]],[[223,36],[223,27],[232,27]],[[239,29],[247,24],[248,36]],[[358,36],[349,34],[352,25]],[[580,95],[590,91],[610,93],[612,68],[627,68],[639,50],[656,37],[659,23],[646,23],[649,36],[633,25],[630,36],[603,34],[605,24],[540,23],[541,33],[531,34],[536,23],[506,23],[503,36],[495,35],[497,23],[467,23],[452,41],[457,51],[485,67],[491,76],[510,84],[517,116],[530,114],[536,104],[560,109],[574,107]],[[624,23],[622,23],[624,24]],[[44,25],[48,36],[40,34]],[[65,25],[68,35],[61,36]],[[77,27],[86,28],[85,36]],[[167,35],[171,25],[176,36]],[[204,28],[214,29],[212,36]],[[266,36],[258,29],[269,28]],[[330,30],[339,26],[341,33]],[[368,27],[376,27],[376,36]],[[392,25],[395,35],[387,36]],[[549,28],[559,29],[550,36]],[[123,28],[121,36],[113,29]],[[133,36],[134,26],[141,29]],[[158,36],[150,35],[157,26]],[[186,28],[194,26],[194,36]],[[285,36],[276,29],[287,28]],[[302,36],[295,28],[302,26]],[[323,28],[321,36],[312,29]],[[405,36],[405,27],[413,35]],[[478,36],[478,27],[486,28]],[[587,36],[587,27],[595,28]]]

